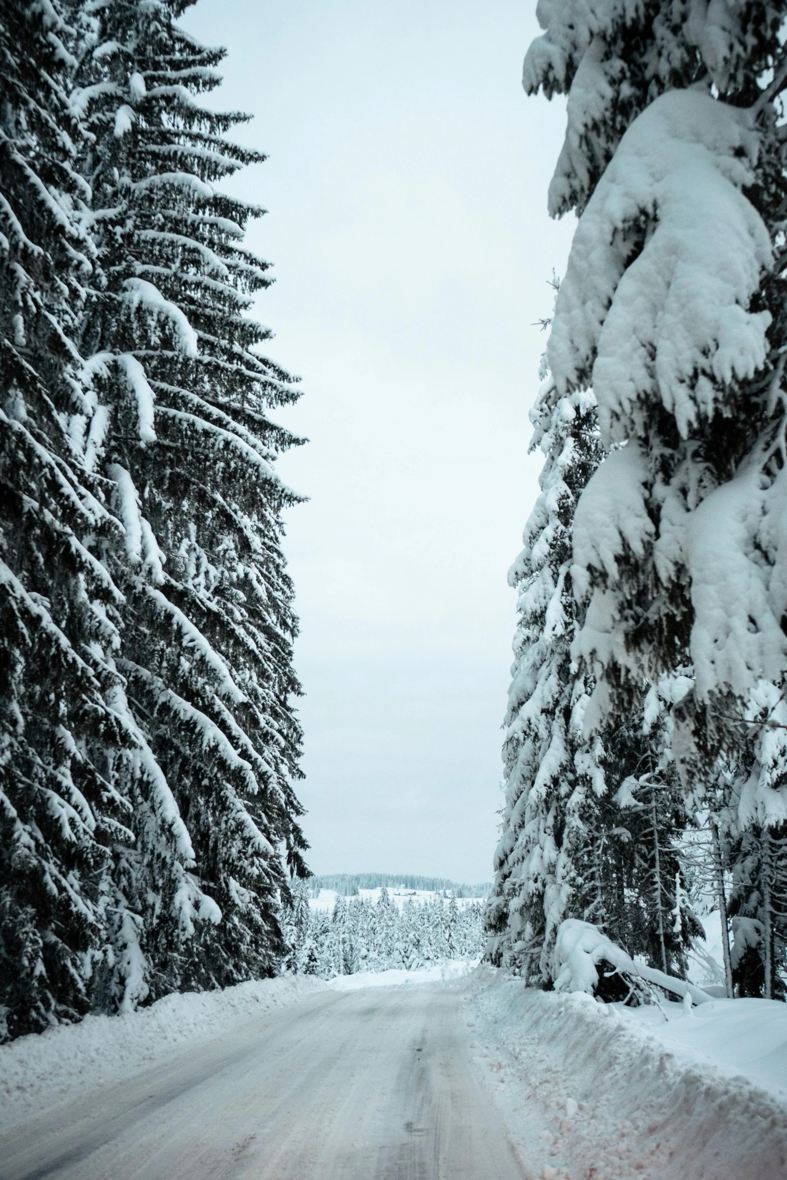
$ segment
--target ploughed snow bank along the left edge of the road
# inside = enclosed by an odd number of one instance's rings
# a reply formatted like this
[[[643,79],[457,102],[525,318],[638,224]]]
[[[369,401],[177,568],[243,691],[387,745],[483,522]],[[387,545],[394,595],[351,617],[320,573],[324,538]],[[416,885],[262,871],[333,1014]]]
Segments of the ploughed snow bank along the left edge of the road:
[[[0,1130],[66,1095],[132,1077],[324,986],[311,976],[278,976],[223,991],[176,994],[136,1012],[86,1016],[80,1024],[59,1024],[0,1045]]]

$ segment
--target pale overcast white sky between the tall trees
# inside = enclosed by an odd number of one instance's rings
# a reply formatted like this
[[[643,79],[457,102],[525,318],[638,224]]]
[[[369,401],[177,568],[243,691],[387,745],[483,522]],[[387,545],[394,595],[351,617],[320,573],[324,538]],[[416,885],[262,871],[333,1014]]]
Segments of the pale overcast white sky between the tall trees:
[[[514,625],[537,494],[527,411],[573,219],[546,216],[563,106],[527,99],[524,0],[199,0],[217,105],[268,152],[258,314],[303,380],[282,477],[302,634],[315,872],[491,879]]]

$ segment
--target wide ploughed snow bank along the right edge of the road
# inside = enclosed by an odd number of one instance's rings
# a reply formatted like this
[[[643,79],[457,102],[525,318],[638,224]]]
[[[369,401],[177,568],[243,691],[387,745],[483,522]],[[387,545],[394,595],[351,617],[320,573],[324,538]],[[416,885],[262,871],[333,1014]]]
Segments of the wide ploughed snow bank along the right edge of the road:
[[[533,1175],[783,1180],[787,1005],[766,1016],[766,1003],[713,1001],[668,1024],[656,1007],[621,1014],[481,968],[471,1020],[481,1075]]]

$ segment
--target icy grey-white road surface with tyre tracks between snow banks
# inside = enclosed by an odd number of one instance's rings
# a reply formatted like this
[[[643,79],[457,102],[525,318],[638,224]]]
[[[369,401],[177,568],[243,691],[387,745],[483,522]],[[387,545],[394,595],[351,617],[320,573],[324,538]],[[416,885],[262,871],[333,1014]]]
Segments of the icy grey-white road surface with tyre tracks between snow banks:
[[[323,991],[18,1125],[1,1180],[523,1180],[455,985]]]

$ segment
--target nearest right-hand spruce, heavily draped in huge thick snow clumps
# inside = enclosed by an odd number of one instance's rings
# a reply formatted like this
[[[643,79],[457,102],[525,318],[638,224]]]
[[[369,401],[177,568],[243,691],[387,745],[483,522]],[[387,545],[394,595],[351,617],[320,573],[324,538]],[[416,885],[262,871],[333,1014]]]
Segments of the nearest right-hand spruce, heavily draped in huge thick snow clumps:
[[[550,201],[581,214],[549,363],[560,394],[592,387],[608,452],[573,535],[586,729],[643,678],[684,681],[684,782],[699,800],[726,761],[739,831],[759,841],[787,819],[787,9],[538,11],[525,85],[569,96]]]

